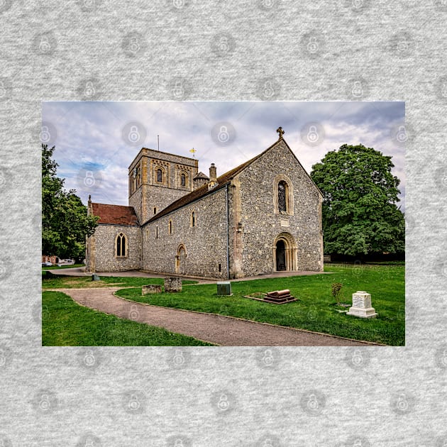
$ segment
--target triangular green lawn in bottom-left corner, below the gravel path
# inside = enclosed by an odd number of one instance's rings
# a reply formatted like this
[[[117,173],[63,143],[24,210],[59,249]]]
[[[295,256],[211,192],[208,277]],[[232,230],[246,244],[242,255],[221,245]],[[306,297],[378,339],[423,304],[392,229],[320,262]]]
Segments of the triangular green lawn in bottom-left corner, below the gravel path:
[[[119,319],[113,315],[79,306],[62,292],[44,292],[42,295],[42,346],[212,345],[180,333]]]

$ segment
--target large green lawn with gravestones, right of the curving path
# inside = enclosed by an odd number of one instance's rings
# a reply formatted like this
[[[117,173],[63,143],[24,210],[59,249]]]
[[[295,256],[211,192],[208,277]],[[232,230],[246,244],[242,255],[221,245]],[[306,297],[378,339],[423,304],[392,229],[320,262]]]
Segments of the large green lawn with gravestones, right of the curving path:
[[[217,297],[216,285],[191,285],[180,294],[141,295],[141,288],[122,289],[118,296],[156,306],[210,312],[263,321],[298,329],[330,333],[392,346],[405,344],[405,266],[336,265],[325,267],[332,275],[282,277],[232,282],[233,297]],[[153,282],[151,280],[150,282]],[[352,304],[352,294],[366,290],[379,314],[360,319],[339,311],[331,295],[331,284],[343,283],[342,302]],[[155,280],[154,280],[155,283]],[[299,299],[289,304],[270,304],[243,298],[254,292],[290,289]]]

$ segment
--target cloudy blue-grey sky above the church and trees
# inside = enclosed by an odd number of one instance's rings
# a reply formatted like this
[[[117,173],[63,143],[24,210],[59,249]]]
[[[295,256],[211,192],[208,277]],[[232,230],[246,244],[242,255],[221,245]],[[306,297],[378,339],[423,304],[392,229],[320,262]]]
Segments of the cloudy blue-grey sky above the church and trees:
[[[342,144],[391,155],[404,211],[404,102],[44,102],[40,139],[55,145],[58,177],[84,204],[128,204],[128,166],[140,148],[191,157],[218,175],[284,138],[304,169]]]

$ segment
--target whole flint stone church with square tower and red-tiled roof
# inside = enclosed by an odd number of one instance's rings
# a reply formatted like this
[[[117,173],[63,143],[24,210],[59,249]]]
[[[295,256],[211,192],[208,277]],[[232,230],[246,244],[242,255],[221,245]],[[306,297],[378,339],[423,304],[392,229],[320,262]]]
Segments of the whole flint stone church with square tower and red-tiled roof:
[[[218,177],[195,158],[142,148],[128,168],[128,204],[98,204],[87,272],[233,279],[323,270],[322,195],[278,128],[255,158]]]

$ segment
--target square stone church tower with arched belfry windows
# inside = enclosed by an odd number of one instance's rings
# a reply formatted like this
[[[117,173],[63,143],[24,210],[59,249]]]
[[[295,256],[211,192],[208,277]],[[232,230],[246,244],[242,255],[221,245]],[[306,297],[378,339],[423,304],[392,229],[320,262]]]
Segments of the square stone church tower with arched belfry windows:
[[[192,192],[198,168],[195,158],[142,148],[128,170],[128,203],[140,224]]]

